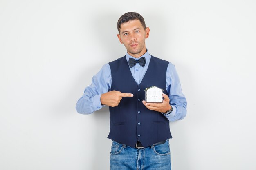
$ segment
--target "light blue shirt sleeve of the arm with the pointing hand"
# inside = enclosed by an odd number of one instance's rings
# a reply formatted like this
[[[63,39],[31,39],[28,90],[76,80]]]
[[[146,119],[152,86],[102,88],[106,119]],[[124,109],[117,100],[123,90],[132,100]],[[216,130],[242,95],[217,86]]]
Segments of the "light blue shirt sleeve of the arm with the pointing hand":
[[[81,114],[90,114],[101,109],[101,94],[110,91],[111,80],[110,66],[105,64],[92,77],[92,84],[85,88],[83,96],[76,103],[76,111]]]

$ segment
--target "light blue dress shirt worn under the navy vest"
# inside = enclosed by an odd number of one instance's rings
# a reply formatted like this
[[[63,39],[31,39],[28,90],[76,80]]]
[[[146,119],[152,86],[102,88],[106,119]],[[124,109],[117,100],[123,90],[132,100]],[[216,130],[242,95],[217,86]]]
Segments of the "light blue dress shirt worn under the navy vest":
[[[134,67],[130,68],[132,76],[138,85],[140,84],[148,69],[151,55],[147,50],[147,52],[141,57],[146,58],[145,66],[142,67],[139,64],[136,64]],[[141,57],[135,58],[126,53],[127,62],[129,58],[139,60]],[[81,114],[90,114],[96,110],[101,109],[101,94],[111,91],[111,80],[110,65],[105,64],[101,70],[92,77],[92,84],[85,88],[83,96],[76,103],[77,112]],[[182,93],[180,79],[178,77],[175,66],[171,63],[168,64],[166,71],[166,91],[169,94],[170,104],[173,107],[173,111],[172,113],[165,116],[169,121],[183,119],[186,116],[187,102],[185,96]]]

